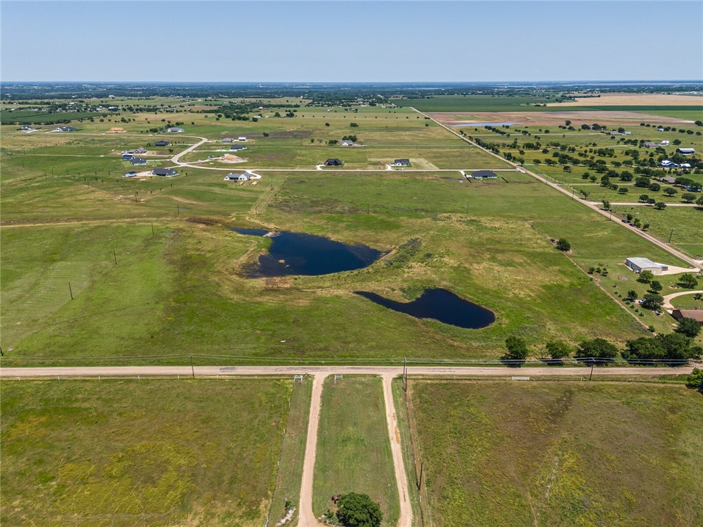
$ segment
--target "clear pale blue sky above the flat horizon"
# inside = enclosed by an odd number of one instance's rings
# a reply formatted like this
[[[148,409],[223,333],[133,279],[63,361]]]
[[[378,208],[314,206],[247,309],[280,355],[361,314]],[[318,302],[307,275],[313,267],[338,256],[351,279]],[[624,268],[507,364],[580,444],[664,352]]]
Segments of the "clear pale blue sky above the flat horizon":
[[[12,81],[703,79],[701,1],[1,1]]]

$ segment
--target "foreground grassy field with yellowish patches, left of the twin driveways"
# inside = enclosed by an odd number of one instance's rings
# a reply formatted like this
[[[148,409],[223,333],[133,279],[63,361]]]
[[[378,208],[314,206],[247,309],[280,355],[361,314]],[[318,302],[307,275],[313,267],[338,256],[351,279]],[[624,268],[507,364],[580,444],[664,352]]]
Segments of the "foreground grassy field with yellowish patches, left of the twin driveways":
[[[260,526],[291,389],[276,380],[5,381],[3,525]]]

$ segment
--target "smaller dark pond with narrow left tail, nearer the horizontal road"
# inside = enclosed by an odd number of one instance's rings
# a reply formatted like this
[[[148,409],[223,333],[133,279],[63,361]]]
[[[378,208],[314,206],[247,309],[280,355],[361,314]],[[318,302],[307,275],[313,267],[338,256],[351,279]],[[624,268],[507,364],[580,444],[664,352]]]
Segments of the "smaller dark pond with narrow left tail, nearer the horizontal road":
[[[425,289],[420,297],[408,303],[396,302],[366,291],[356,291],[356,294],[393,311],[415,318],[434,318],[469,330],[478,330],[496,320],[496,315],[488,309],[461,299],[446,289]]]

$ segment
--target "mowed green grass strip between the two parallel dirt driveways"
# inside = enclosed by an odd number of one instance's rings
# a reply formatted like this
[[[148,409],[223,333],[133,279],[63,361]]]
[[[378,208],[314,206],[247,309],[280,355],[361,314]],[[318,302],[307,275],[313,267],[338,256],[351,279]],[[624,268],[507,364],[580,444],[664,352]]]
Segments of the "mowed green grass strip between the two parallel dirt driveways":
[[[398,487],[385,421],[380,377],[325,379],[317,436],[313,511],[333,509],[330,497],[368,494],[383,512],[383,525],[398,521]]]

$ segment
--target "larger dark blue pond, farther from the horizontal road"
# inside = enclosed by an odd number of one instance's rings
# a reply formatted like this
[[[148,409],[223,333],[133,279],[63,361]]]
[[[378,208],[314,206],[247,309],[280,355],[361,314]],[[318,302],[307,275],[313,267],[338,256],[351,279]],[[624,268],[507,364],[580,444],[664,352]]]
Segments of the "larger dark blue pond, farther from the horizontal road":
[[[247,270],[250,278],[285,275],[328,275],[370,266],[381,252],[366,245],[347,245],[323,236],[271,233],[265,229],[233,228],[240,234],[271,238],[269,254],[259,256],[258,266]]]

